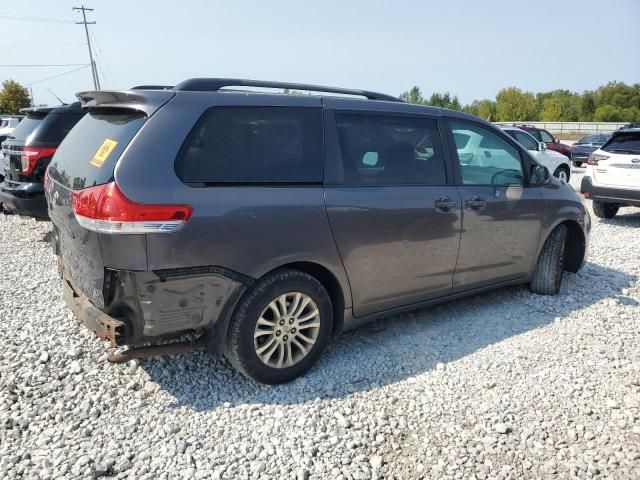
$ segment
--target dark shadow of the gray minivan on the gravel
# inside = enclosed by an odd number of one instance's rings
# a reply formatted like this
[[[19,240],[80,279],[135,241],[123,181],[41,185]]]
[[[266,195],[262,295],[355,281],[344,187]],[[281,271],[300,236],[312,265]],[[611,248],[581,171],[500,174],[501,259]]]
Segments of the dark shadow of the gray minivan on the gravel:
[[[381,319],[333,338],[311,371],[275,387],[258,385],[222,357],[204,352],[149,359],[141,365],[174,398],[170,408],[211,410],[342,398],[423,374],[604,299],[637,303],[622,295],[635,280],[587,263],[577,275],[565,275],[557,296],[534,295],[526,286],[507,287]]]

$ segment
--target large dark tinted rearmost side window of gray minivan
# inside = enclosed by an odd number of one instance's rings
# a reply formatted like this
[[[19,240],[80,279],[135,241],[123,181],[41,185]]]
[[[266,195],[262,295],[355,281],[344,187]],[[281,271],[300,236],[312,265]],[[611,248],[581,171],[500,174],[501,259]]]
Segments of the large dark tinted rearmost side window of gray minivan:
[[[213,107],[185,140],[175,169],[185,183],[322,182],[319,108]]]

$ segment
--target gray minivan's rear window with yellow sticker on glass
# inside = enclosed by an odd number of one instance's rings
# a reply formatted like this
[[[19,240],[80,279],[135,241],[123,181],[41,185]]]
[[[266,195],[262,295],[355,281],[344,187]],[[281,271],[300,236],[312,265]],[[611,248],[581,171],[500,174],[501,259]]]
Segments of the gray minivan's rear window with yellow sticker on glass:
[[[131,110],[90,111],[58,148],[51,176],[74,190],[110,182],[118,158],[146,118]]]

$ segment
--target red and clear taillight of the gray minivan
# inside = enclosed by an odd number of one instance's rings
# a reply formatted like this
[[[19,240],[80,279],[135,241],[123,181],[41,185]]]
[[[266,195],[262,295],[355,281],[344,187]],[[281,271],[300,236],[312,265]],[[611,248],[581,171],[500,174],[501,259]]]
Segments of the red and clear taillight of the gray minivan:
[[[190,205],[134,203],[115,182],[73,192],[72,205],[78,223],[100,233],[175,232],[193,213]]]

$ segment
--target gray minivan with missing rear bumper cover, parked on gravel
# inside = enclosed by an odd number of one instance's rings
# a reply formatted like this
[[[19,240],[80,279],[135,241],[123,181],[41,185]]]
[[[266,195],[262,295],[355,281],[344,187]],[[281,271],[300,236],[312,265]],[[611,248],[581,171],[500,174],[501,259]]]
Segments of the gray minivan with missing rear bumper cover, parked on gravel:
[[[236,79],[78,98],[45,189],[69,306],[152,344],[114,361],[202,346],[282,383],[332,334],[505,285],[555,294],[585,261],[574,190],[471,115]]]

